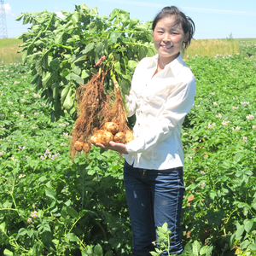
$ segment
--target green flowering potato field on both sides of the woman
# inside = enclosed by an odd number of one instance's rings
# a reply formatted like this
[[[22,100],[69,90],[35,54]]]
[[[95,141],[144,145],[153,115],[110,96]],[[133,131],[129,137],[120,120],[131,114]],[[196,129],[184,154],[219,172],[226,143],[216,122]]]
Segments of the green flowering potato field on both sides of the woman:
[[[183,255],[256,254],[250,50],[186,61],[197,91],[182,134]],[[50,122],[28,69],[0,67],[0,255],[130,255],[124,160],[93,147],[71,161],[73,118]]]

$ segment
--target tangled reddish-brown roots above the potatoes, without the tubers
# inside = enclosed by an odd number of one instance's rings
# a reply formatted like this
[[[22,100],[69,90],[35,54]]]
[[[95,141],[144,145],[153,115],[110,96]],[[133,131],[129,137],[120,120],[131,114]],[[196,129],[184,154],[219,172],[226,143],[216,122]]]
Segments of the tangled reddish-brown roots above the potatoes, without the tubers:
[[[115,90],[114,97],[106,94],[104,90],[103,84],[107,73],[107,71],[96,73],[88,84],[81,85],[77,91],[79,118],[72,131],[73,137],[70,143],[72,159],[76,154],[74,143],[89,142],[94,128],[102,129],[106,122],[113,121],[119,125],[119,131],[130,130],[126,125],[126,113],[120,90]]]

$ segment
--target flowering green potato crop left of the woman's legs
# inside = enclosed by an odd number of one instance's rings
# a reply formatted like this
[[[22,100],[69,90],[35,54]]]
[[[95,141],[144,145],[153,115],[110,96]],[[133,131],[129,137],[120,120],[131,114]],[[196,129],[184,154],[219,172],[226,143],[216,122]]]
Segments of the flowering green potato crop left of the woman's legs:
[[[98,148],[71,161],[70,115],[50,122],[28,67],[0,70],[0,254],[129,255],[124,161]]]

